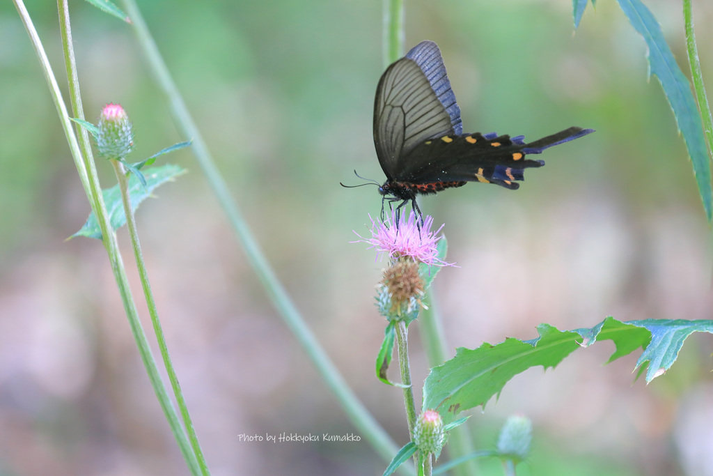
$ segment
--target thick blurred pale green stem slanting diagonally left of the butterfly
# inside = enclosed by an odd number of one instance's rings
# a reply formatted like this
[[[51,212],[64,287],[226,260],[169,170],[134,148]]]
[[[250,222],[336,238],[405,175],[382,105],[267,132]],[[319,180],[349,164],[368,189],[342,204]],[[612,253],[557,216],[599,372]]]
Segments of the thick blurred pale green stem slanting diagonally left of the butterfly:
[[[379,426],[374,417],[366,410],[364,404],[354,395],[354,392],[339,373],[339,370],[334,366],[329,356],[324,351],[317,338],[314,337],[312,330],[309,329],[302,315],[299,314],[297,307],[287,295],[282,284],[277,280],[275,273],[270,264],[267,263],[265,255],[263,255],[260,246],[257,244],[255,237],[252,236],[250,228],[245,223],[242,214],[237,208],[235,201],[230,195],[225,181],[220,172],[215,166],[210,151],[198,130],[198,127],[193,122],[193,118],[188,112],[188,108],[183,102],[178,88],[175,86],[173,79],[168,72],[168,68],[161,57],[158,47],[148,31],[148,27],[143,20],[143,16],[138,9],[134,0],[123,0],[125,10],[133,21],[134,32],[137,36],[143,54],[146,56],[146,61],[154,80],[160,87],[160,90],[168,102],[170,111],[175,119],[178,128],[184,137],[193,138],[193,151],[198,164],[202,169],[207,181],[210,183],[210,188],[217,196],[220,206],[225,211],[228,221],[235,231],[237,238],[242,243],[245,250],[247,260],[252,265],[262,285],[265,287],[268,296],[272,300],[273,305],[277,308],[279,315],[284,320],[287,327],[292,330],[295,337],[304,348],[305,353],[314,363],[315,367],[322,375],[322,379],[327,384],[330,390],[339,400],[340,404],[347,413],[347,416],[352,421],[364,439],[371,443],[374,450],[387,462],[399,451],[394,440]]]

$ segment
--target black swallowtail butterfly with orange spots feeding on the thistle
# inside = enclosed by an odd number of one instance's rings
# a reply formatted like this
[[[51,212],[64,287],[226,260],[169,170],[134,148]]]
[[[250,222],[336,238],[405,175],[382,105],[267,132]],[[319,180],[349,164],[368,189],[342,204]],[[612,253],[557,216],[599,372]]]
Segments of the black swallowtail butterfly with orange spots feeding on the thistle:
[[[525,158],[545,148],[594,132],[570,127],[525,143],[524,136],[511,138],[496,133],[463,134],[461,108],[448,81],[441,50],[433,41],[422,41],[404,58],[384,71],[374,101],[374,145],[386,182],[379,187],[381,220],[384,201],[411,201],[423,216],[416,196],[461,187],[466,182],[495,183],[515,190],[525,168],[541,167],[544,161]]]

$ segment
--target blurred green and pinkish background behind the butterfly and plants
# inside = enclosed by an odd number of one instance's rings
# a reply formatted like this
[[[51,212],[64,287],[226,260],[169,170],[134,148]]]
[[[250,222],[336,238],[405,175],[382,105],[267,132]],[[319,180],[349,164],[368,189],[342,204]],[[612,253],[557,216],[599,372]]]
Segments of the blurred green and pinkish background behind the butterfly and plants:
[[[693,3],[710,81],[713,6]],[[647,5],[689,74],[681,5]],[[27,6],[67,97],[56,5]],[[384,69],[381,3],[140,7],[277,275],[403,445],[401,392],[374,377],[385,323],[372,296],[383,263],[349,243],[352,231],[366,232],[381,197],[339,186],[359,182],[354,168],[383,180],[371,137]],[[448,260],[460,266],[434,285],[451,350],[533,338],[542,322],[571,329],[607,315],[711,318],[710,230],[674,117],[659,83],[647,81],[644,41],[614,1],[589,6],[576,34],[571,9],[567,0],[406,2],[406,48],[424,39],[441,46],[465,131],[535,139],[568,126],[597,129],[547,151],[547,166],[518,191],[468,185],[421,201],[446,223]],[[81,1],[71,14],[87,118],[121,103],[135,125],[134,161],[187,139],[130,27]],[[9,2],[0,6],[0,139],[0,475],[188,474],[101,243],[65,241],[89,206]],[[267,300],[190,151],[167,160],[190,173],[144,203],[138,226],[212,474],[381,474],[384,462],[363,439],[240,441],[355,430]],[[98,159],[98,168],[112,186],[110,166]],[[125,230],[119,237],[130,263]],[[417,384],[428,372],[418,328]],[[535,426],[521,475],[713,475],[709,336],[689,338],[669,373],[648,386],[632,383],[636,355],[603,366],[612,350],[597,343],[555,370],[518,375],[497,404],[473,412],[478,447],[494,447],[497,427],[520,412]],[[480,474],[502,474],[497,462],[480,466]]]

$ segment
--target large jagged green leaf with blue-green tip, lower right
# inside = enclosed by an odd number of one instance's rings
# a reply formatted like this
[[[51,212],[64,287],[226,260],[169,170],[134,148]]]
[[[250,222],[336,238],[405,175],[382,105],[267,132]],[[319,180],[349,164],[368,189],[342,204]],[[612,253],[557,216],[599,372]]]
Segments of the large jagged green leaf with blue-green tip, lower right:
[[[475,350],[458,348],[456,357],[431,369],[424,384],[424,409],[438,410],[443,422],[463,410],[485,407],[493,395],[523,370],[542,365],[555,367],[580,346],[612,340],[616,350],[608,362],[645,348],[636,368],[649,362],[646,381],[662,375],[677,358],[684,340],[694,332],[713,333],[713,320],[647,319],[622,323],[606,318],[590,329],[561,331],[548,324],[538,326],[539,337],[521,341],[508,338],[498,345],[484,343]]]

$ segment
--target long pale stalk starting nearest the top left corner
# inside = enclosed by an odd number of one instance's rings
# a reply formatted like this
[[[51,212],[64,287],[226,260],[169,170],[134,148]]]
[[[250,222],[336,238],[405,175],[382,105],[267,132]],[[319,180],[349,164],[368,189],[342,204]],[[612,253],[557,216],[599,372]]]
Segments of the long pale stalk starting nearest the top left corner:
[[[143,360],[143,363],[146,367],[151,384],[153,385],[153,388],[156,394],[158,395],[159,402],[163,407],[164,413],[167,419],[169,420],[172,430],[174,431],[174,435],[176,437],[176,440],[178,441],[180,450],[183,453],[183,457],[185,458],[191,472],[193,472],[194,475],[198,475],[198,465],[195,462],[195,457],[190,451],[190,445],[188,445],[188,440],[185,438],[185,434],[183,433],[183,430],[180,427],[178,417],[177,415],[175,415],[175,410],[173,410],[173,406],[170,405],[170,400],[168,400],[168,394],[165,392],[165,388],[163,388],[163,383],[159,378],[158,370],[156,369],[155,362],[153,361],[153,355],[151,355],[150,349],[148,347],[148,341],[145,338],[143,328],[141,328],[140,322],[138,320],[138,314],[136,313],[136,308],[133,302],[133,298],[131,296],[131,290],[128,286],[128,280],[126,278],[125,270],[123,268],[123,262],[121,260],[121,255],[119,253],[118,245],[116,243],[116,236],[114,235],[113,230],[111,228],[111,224],[109,223],[108,215],[106,213],[106,207],[104,206],[103,197],[101,195],[101,187],[99,186],[96,173],[94,173],[95,171],[93,168],[93,159],[91,158],[91,155],[82,156],[79,143],[74,134],[71,121],[69,119],[69,114],[67,113],[66,106],[64,105],[64,100],[59,91],[59,86],[57,84],[56,77],[54,76],[52,67],[49,64],[47,55],[45,54],[45,51],[43,49],[42,42],[39,39],[34,24],[32,24],[32,19],[30,18],[23,1],[14,0],[14,4],[20,16],[20,19],[23,22],[25,29],[27,30],[30,42],[39,59],[43,75],[45,76],[45,79],[47,81],[50,95],[52,96],[52,99],[54,101],[60,123],[67,138],[67,143],[71,151],[72,158],[74,160],[74,165],[77,168],[79,179],[82,183],[82,187],[84,188],[84,192],[86,193],[88,201],[91,204],[91,208],[96,215],[99,227],[101,228],[103,235],[102,242],[109,255],[111,269],[113,271],[114,278],[116,280],[118,290],[121,295],[124,310],[129,318],[129,325],[133,333],[134,339],[136,340],[136,343],[138,345],[141,359]],[[60,4],[60,12],[62,11],[63,9]],[[61,18],[63,18],[62,14]],[[60,25],[63,29],[62,41],[63,46],[65,48],[65,54],[67,56],[71,55],[71,52],[67,51],[67,45],[71,44],[71,34],[68,30],[64,29],[64,23],[64,21],[61,21]],[[91,173],[88,173],[88,168]]]

